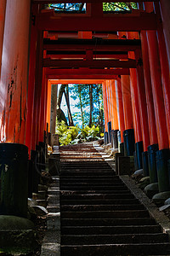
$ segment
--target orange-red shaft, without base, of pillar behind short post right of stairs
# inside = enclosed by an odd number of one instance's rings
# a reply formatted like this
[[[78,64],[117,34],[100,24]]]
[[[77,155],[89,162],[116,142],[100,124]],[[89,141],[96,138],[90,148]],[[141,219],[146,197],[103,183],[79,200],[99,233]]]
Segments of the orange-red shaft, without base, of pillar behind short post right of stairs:
[[[125,121],[125,130],[133,129],[133,112],[130,92],[129,76],[122,76],[122,104]]]

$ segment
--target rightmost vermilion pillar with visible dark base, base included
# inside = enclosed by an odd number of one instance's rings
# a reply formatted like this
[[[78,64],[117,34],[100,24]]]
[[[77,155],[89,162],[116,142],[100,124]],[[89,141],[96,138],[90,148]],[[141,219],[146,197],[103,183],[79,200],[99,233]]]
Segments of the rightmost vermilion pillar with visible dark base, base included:
[[[167,136],[167,122],[163,102],[163,91],[161,84],[161,64],[157,45],[156,32],[147,32],[150,57],[150,75],[152,81],[152,92],[154,108],[156,113],[156,131],[158,137],[159,151],[156,152],[156,166],[159,191],[170,189],[168,180],[167,160],[169,158],[169,144]]]

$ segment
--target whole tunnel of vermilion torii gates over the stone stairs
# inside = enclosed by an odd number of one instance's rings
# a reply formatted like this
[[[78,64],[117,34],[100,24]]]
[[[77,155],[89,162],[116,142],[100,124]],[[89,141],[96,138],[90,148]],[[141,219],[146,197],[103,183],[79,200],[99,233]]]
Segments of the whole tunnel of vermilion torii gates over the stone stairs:
[[[139,9],[125,14],[103,2],[0,1],[0,146],[26,147],[33,162],[47,143],[51,85],[103,84],[105,143],[119,131],[136,170],[170,191],[170,1],[133,0]],[[86,13],[47,3],[87,3]]]

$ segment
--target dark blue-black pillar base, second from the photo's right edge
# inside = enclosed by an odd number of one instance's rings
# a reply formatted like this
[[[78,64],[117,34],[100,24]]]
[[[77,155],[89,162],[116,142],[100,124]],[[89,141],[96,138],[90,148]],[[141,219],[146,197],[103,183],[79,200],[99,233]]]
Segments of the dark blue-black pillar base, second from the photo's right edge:
[[[158,144],[153,144],[148,147],[148,167],[150,173],[150,183],[157,183],[156,169],[156,151],[159,150]]]

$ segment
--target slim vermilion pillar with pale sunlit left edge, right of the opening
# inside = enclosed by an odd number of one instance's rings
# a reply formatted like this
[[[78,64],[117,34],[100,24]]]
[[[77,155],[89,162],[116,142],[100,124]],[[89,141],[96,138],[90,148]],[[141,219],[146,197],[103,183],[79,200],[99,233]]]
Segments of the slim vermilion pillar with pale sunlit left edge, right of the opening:
[[[124,113],[122,104],[122,83],[121,79],[115,81],[116,88],[116,106],[117,106],[117,117],[119,124],[119,131],[121,131],[121,141],[123,143],[123,131],[125,131]]]

